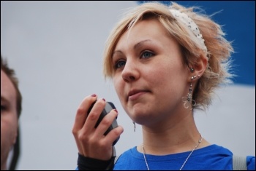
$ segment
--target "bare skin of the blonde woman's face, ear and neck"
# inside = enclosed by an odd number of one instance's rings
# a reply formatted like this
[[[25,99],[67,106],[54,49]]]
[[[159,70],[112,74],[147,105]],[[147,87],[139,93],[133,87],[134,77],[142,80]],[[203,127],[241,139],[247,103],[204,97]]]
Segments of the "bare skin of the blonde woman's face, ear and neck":
[[[157,20],[137,23],[121,36],[113,53],[116,92],[129,117],[142,124],[147,154],[191,151],[200,139],[181,97],[189,92],[191,77],[203,74],[207,60],[198,60],[191,73],[181,59],[178,42]],[[198,148],[208,145],[203,140]]]

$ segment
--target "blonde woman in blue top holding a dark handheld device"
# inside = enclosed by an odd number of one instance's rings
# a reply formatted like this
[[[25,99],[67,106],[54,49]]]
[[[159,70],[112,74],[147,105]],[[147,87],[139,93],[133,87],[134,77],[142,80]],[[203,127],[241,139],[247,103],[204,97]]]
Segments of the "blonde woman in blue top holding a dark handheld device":
[[[211,104],[219,84],[230,81],[232,52],[221,27],[193,8],[152,2],[128,12],[108,38],[104,74],[113,79],[128,116],[142,125],[143,143],[113,165],[112,145],[123,128],[104,133],[118,112],[94,128],[105,100],[88,96],[72,130],[78,169],[233,170],[232,152],[204,139],[193,117],[195,109]],[[255,156],[246,157],[246,167],[255,170]]]

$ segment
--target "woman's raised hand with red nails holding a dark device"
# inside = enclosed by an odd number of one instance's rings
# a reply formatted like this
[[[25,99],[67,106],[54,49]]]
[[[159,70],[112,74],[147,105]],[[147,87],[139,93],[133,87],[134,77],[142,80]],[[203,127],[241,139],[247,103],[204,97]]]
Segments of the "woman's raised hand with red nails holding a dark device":
[[[115,109],[102,119],[97,128],[94,127],[106,104],[105,99],[97,100],[88,114],[90,106],[96,100],[97,95],[90,95],[80,103],[75,116],[72,134],[75,137],[79,154],[93,159],[108,160],[112,156],[113,142],[121,135],[124,129],[118,126],[111,130],[108,135],[104,135],[118,115]]]

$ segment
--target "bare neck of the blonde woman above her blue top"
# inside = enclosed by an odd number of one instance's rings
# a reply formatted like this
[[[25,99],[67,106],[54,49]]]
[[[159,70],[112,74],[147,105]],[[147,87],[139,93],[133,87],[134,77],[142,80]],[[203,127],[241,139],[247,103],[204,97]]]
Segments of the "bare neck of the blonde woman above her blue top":
[[[193,116],[186,116],[180,122],[175,121],[159,123],[154,127],[143,126],[143,147],[146,154],[165,155],[192,150],[200,139]],[[197,148],[209,145],[202,139]],[[142,152],[142,144],[138,146],[138,151]]]

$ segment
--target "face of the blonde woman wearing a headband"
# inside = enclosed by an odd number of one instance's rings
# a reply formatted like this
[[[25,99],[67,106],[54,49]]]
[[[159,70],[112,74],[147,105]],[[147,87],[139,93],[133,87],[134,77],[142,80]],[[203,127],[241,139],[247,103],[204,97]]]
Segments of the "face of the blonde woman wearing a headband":
[[[157,20],[140,21],[121,36],[113,52],[113,82],[134,122],[156,124],[184,110],[189,74],[182,61],[178,42]]]

